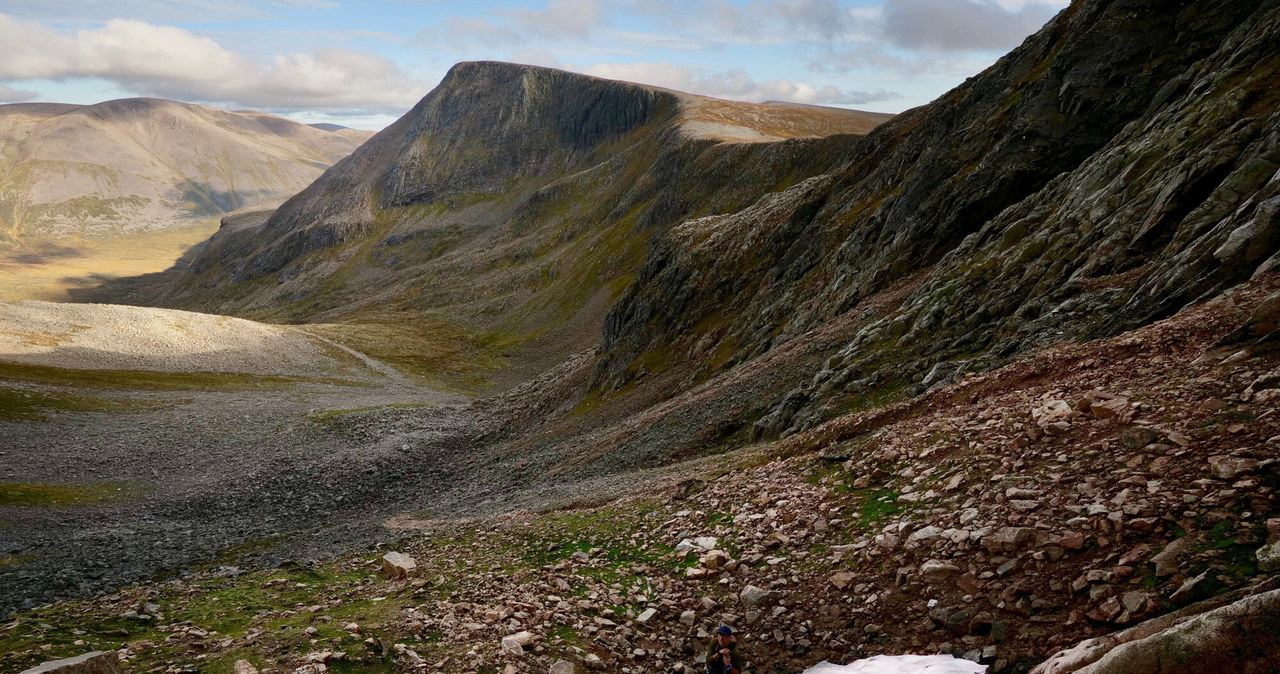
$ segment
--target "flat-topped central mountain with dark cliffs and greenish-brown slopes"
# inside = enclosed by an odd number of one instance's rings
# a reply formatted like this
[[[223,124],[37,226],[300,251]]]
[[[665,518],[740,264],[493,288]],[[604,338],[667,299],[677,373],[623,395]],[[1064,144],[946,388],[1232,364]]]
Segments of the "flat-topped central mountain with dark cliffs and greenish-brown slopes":
[[[549,366],[598,340],[654,231],[831,168],[847,139],[819,137],[887,118],[463,63],[147,301],[278,320],[447,313],[499,341],[543,336]]]

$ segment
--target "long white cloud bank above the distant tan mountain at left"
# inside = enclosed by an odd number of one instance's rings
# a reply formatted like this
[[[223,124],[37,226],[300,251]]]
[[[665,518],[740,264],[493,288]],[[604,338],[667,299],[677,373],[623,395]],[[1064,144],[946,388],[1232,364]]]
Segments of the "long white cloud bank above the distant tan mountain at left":
[[[169,26],[113,19],[63,35],[0,14],[0,78],[101,78],[143,95],[285,109],[403,110],[428,86],[380,56],[340,49],[278,54],[266,63]]]

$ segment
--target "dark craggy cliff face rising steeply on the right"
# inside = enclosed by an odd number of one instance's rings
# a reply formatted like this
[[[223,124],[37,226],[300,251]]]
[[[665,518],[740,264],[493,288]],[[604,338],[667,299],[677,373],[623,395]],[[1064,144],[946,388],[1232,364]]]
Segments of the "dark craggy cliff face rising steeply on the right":
[[[1074,3],[842,170],[673,228],[607,317],[595,386],[658,348],[707,377],[864,316],[756,421],[788,434],[1275,267],[1277,31],[1276,3]]]

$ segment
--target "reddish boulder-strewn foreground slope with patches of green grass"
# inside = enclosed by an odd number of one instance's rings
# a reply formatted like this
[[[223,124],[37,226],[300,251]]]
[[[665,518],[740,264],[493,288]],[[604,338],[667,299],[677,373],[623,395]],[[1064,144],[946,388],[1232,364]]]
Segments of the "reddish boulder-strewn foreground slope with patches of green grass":
[[[727,623],[759,671],[940,651],[1027,671],[1192,605],[1252,593],[1274,620],[1277,289],[1263,275],[568,509],[401,517],[401,538],[367,554],[59,602],[0,627],[3,661],[106,648],[156,673],[687,671]],[[416,568],[402,576],[389,550]],[[1236,660],[1202,664],[1265,662],[1272,642],[1262,628]]]

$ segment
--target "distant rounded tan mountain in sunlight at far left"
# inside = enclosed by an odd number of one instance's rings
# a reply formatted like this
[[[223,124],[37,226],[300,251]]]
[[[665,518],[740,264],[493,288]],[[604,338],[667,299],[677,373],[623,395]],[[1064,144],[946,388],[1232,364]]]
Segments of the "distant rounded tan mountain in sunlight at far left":
[[[0,246],[173,229],[282,200],[360,142],[156,98],[0,105]]]

